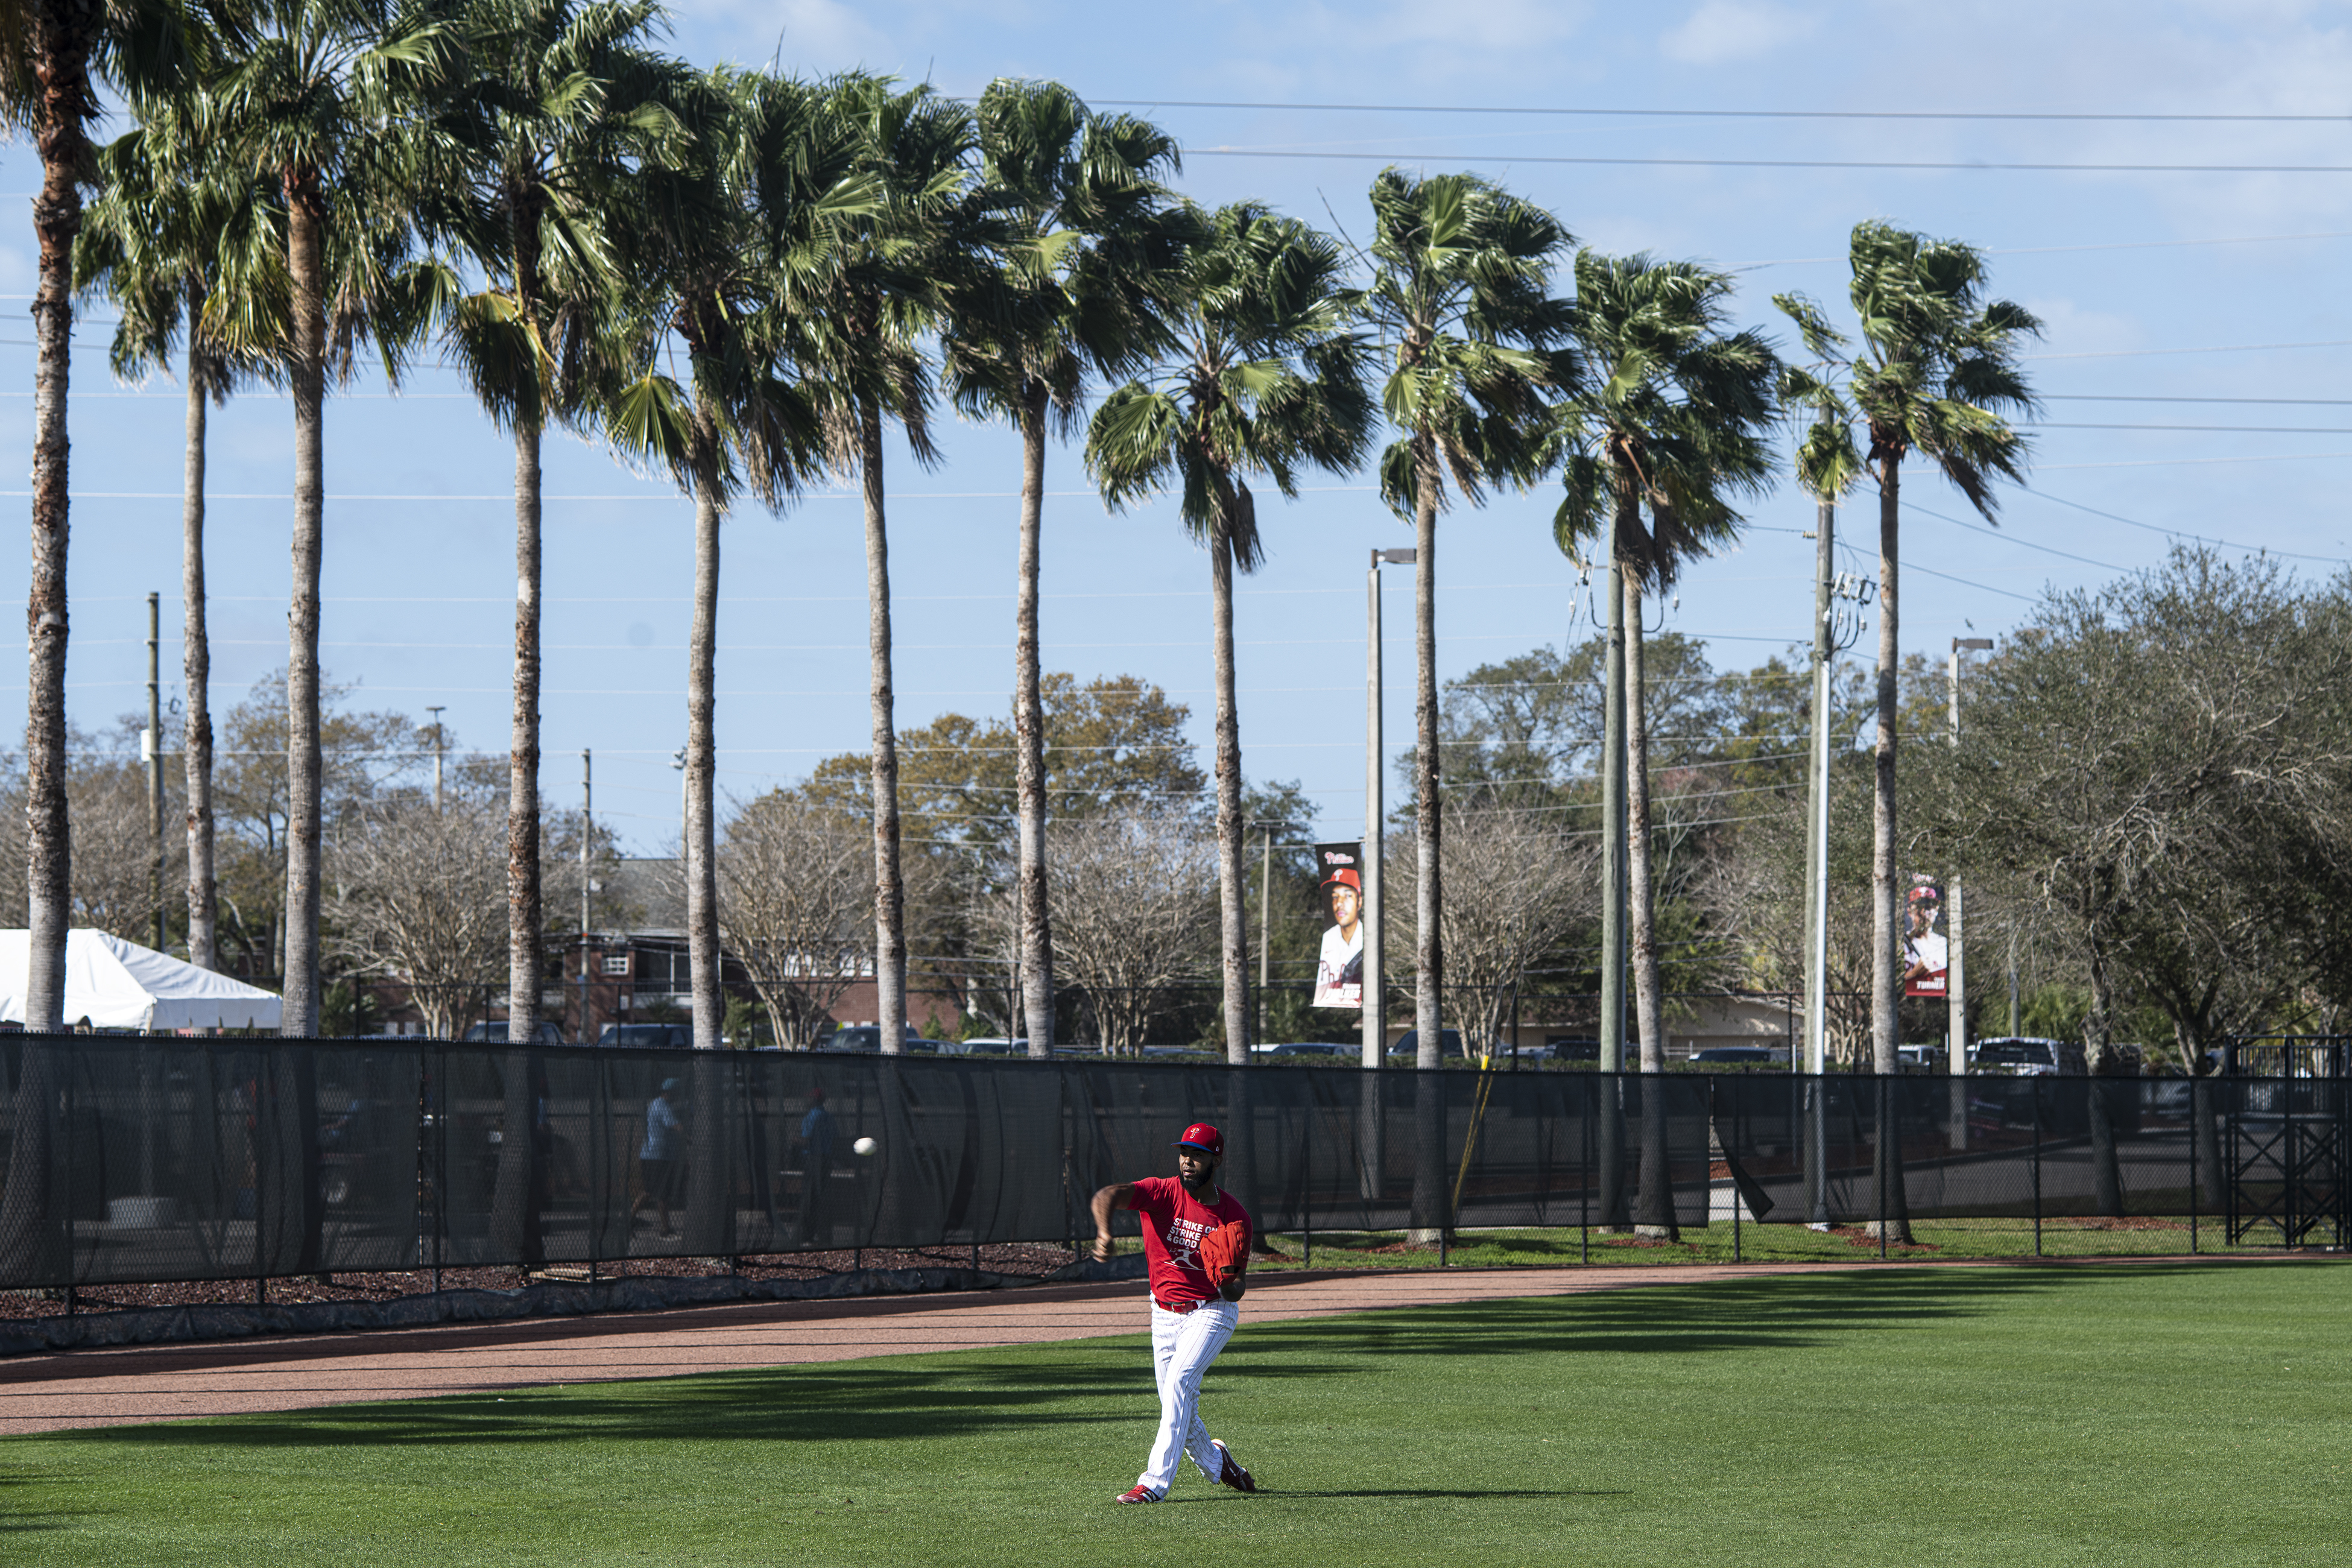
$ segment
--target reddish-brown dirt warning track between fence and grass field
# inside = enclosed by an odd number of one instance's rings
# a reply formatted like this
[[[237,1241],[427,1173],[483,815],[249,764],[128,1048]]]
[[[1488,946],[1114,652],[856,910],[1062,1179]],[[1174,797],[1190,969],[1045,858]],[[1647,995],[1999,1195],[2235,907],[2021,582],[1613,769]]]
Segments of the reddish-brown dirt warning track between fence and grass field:
[[[1261,1274],[1242,1302],[1242,1328],[1247,1333],[1249,1324],[1383,1307],[1442,1307],[1766,1274],[1851,1274],[1879,1267],[1905,1265]],[[0,1436],[557,1382],[682,1378],[851,1356],[988,1349],[1148,1328],[1150,1302],[1141,1281],[1122,1281],[75,1349],[0,1361]]]

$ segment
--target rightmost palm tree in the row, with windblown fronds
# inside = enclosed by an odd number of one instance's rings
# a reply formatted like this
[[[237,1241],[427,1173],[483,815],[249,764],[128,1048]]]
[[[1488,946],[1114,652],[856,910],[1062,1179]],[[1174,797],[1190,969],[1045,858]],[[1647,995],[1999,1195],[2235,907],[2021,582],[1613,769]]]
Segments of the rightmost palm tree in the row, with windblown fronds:
[[[1853,473],[1849,418],[1870,433],[1863,463],[1879,482],[1879,682],[1875,802],[1870,820],[1870,1063],[1896,1072],[1903,1001],[1903,886],[1896,867],[1896,668],[1900,592],[1898,524],[1903,461],[1915,451],[1936,463],[1985,522],[1997,522],[1994,480],[2023,480],[2027,442],[2006,414],[2037,409],[2018,369],[2018,346],[2042,322],[2011,301],[1985,301],[1985,256],[1959,240],[1929,240],[1877,219],[1856,223],[1849,299],[1860,317],[1863,353],[1844,357],[1844,336],[1799,294],[1773,299],[1825,362],[1844,362],[1844,397],[1825,378],[1792,381],[1792,393],[1820,411],[1799,449],[1799,477],[1816,494],[1837,494]],[[1851,407],[1849,407],[1851,400]],[[1910,1241],[1900,1150],[1882,1103],[1877,1190],[1886,1229]]]

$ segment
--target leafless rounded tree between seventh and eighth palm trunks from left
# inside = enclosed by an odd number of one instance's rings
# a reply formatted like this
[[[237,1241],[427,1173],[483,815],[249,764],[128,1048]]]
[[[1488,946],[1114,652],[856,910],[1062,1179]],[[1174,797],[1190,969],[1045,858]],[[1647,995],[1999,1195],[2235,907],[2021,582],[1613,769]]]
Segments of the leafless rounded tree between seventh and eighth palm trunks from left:
[[[1167,990],[1197,978],[1216,933],[1216,842],[1197,813],[1115,809],[1049,827],[1054,969],[1087,999],[1108,1056],[1143,1048]],[[983,907],[997,919],[1011,900]]]

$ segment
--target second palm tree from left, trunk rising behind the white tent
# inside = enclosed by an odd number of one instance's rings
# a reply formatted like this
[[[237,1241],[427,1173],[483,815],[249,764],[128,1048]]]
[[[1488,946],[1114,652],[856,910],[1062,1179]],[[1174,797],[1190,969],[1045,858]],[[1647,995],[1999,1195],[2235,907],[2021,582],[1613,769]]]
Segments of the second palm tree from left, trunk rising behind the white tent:
[[[73,244],[75,287],[101,292],[118,310],[113,369],[141,378],[183,353],[188,395],[181,489],[181,616],[188,689],[181,764],[188,832],[188,961],[219,966],[219,886],[212,818],[212,642],[205,616],[205,425],[207,402],[228,402],[247,381],[275,378],[275,364],[238,353],[205,331],[205,303],[226,289],[282,292],[282,280],[230,280],[223,261],[273,261],[273,214],[261,190],[219,160],[205,160],[186,99],[148,94],[139,129],[99,153],[99,195]],[[186,341],[181,336],[186,334]]]

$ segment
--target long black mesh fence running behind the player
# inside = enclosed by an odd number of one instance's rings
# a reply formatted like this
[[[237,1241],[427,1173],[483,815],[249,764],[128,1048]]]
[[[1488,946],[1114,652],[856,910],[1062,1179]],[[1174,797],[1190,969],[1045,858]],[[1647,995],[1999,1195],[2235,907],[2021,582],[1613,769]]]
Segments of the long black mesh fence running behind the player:
[[[1225,1128],[1268,1232],[2204,1215],[2352,1241],[2345,1079],[1362,1072],[0,1037],[0,1288],[1063,1241]],[[866,1140],[873,1140],[866,1145]],[[868,1152],[861,1152],[866,1147]],[[1131,1227],[1131,1215],[1122,1215]]]

